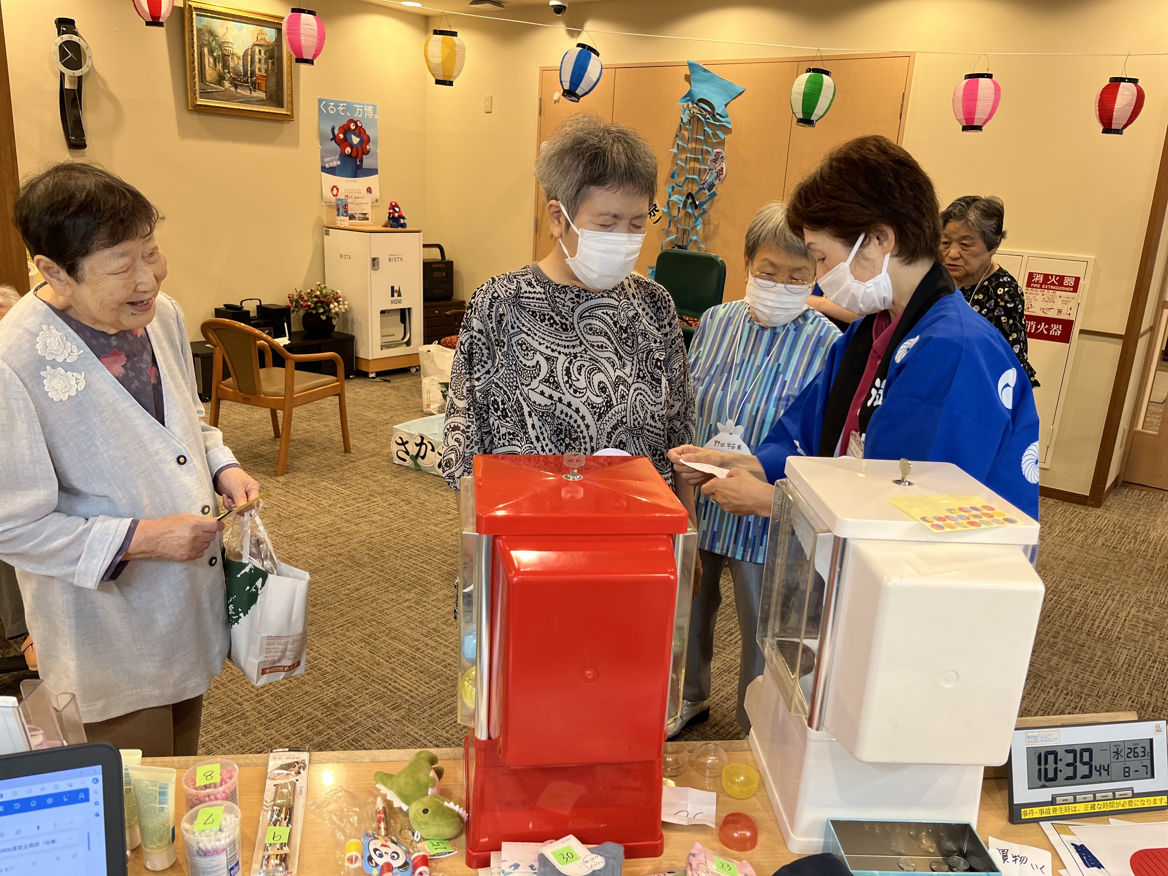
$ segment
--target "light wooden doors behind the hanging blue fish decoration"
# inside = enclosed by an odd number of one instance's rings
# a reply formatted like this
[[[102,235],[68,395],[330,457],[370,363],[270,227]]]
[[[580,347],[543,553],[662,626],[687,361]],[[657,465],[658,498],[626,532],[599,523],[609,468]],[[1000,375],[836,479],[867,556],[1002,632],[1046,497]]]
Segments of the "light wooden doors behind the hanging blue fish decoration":
[[[742,85],[745,91],[729,105],[732,128],[725,140],[726,178],[704,217],[701,239],[708,252],[726,263],[725,300],[742,298],[743,239],[751,218],[767,201],[784,197],[833,146],[865,133],[901,141],[902,107],[908,102],[911,55],[876,55],[816,60],[836,81],[832,111],[815,128],[801,128],[791,114],[791,86],[811,61],[766,58],[758,61],[702,62],[711,72]],[[681,107],[689,90],[684,62],[612,64],[605,67],[597,90],[579,104],[554,100],[559,90],[556,68],[541,70],[540,142],[572,112],[591,109],[603,118],[635,128],[653,146],[659,165],[658,203],[666,203],[666,186],[673,173],[670,152]],[[603,91],[603,89],[607,91]],[[649,225],[649,238],[637,270],[647,273],[656,263],[667,220]],[[535,257],[551,246],[543,199],[536,199]]]

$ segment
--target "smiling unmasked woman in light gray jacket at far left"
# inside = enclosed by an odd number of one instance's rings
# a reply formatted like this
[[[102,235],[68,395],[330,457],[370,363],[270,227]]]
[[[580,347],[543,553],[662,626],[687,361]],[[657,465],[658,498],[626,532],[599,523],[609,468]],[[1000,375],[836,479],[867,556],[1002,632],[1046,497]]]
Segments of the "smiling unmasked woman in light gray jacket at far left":
[[[0,324],[0,559],[89,738],[195,755],[230,638],[215,493],[231,508],[259,486],[200,422],[150,201],[62,164],[14,218],[46,283]]]

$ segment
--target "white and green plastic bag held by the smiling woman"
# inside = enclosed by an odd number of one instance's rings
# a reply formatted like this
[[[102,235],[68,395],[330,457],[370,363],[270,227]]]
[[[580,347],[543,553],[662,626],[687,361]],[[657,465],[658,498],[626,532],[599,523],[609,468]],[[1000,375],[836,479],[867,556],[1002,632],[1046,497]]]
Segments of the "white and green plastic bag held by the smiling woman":
[[[231,662],[256,687],[299,675],[308,658],[308,572],[276,558],[262,505],[234,514],[223,538]]]

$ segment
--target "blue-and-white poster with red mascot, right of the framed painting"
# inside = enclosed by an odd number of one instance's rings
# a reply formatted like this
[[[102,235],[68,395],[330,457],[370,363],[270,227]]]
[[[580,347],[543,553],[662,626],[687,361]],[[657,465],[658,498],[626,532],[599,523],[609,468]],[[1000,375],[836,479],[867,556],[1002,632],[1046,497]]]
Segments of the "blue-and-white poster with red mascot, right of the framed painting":
[[[377,104],[317,100],[320,132],[320,197],[381,200],[377,185]]]

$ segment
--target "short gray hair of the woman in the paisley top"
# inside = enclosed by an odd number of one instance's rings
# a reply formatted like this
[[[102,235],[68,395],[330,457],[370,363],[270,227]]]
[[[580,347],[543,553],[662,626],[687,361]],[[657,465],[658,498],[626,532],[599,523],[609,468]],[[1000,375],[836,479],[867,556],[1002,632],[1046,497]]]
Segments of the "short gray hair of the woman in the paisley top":
[[[596,188],[642,195],[651,201],[656,194],[656,155],[631,127],[584,112],[566,118],[543,144],[535,175],[544,200],[558,201],[575,218]]]

